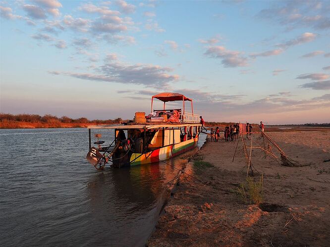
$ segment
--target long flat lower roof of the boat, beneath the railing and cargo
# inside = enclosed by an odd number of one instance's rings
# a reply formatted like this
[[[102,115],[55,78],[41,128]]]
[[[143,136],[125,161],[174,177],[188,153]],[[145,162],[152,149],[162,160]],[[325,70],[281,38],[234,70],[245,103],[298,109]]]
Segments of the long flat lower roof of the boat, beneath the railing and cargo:
[[[87,125],[87,128],[108,128],[108,129],[153,129],[153,128],[163,128],[163,127],[185,127],[185,126],[200,126],[201,124],[131,124],[131,125],[113,125],[113,124],[106,124],[106,125]]]

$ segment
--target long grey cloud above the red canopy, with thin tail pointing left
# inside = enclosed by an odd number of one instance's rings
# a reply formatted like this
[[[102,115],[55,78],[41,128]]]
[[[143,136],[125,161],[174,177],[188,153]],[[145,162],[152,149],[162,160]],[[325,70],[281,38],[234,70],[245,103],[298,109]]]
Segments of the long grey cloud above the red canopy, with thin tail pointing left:
[[[169,75],[171,68],[151,64],[125,64],[121,62],[107,63],[96,68],[97,74],[62,72],[60,74],[103,82],[119,82],[164,88],[169,82],[179,79],[177,75]],[[54,72],[50,72],[55,74]],[[58,72],[56,72],[58,73]]]

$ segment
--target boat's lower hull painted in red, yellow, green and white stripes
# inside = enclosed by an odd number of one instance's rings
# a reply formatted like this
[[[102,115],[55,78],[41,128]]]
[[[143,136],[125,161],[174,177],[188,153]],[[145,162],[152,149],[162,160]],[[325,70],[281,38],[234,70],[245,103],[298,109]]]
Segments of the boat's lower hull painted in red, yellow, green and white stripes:
[[[130,165],[144,165],[165,161],[195,148],[197,143],[198,137],[177,144],[172,144],[164,148],[159,148],[146,154],[133,153],[130,158]]]

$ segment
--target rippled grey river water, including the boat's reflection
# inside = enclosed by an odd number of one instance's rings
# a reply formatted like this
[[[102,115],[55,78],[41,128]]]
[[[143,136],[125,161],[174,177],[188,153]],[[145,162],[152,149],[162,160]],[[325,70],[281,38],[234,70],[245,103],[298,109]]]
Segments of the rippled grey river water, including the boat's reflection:
[[[0,129],[0,151],[0,246],[144,246],[177,174],[164,163],[97,171],[81,128]]]

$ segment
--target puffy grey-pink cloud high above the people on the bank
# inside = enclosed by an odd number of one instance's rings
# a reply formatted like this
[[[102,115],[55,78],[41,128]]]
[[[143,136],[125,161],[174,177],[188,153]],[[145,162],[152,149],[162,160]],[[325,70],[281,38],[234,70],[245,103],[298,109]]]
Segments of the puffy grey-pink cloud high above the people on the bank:
[[[204,53],[208,57],[220,58],[224,67],[247,66],[247,58],[240,51],[227,50],[224,46],[210,46]]]

